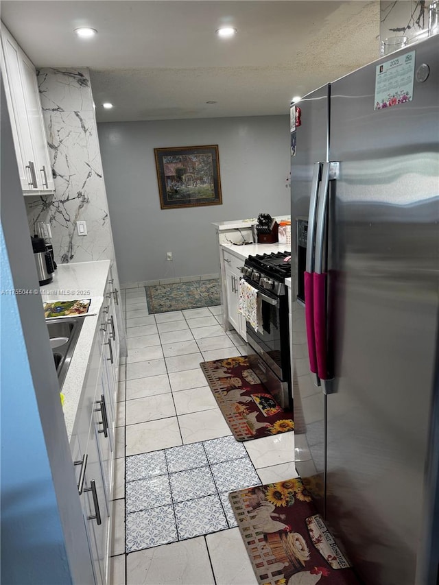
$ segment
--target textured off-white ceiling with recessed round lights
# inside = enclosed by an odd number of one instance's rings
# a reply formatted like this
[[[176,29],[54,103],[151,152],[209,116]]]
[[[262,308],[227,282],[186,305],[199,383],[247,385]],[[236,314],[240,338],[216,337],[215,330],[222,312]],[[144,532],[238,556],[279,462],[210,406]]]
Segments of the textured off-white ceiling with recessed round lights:
[[[98,121],[287,114],[379,56],[378,1],[5,0],[1,18],[36,66],[90,69]]]

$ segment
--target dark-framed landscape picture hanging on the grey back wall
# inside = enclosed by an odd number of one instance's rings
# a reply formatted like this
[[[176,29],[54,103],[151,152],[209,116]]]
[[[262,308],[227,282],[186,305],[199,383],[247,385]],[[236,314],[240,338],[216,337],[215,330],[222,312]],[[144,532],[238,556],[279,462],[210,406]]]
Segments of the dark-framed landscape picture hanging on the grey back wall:
[[[162,209],[222,205],[218,145],[154,148]]]

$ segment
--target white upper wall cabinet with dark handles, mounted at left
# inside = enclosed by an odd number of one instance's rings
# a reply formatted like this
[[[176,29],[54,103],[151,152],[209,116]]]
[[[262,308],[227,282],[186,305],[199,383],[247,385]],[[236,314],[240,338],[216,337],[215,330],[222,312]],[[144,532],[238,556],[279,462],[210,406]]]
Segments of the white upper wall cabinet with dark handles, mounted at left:
[[[54,192],[36,71],[1,23],[1,69],[24,195]]]

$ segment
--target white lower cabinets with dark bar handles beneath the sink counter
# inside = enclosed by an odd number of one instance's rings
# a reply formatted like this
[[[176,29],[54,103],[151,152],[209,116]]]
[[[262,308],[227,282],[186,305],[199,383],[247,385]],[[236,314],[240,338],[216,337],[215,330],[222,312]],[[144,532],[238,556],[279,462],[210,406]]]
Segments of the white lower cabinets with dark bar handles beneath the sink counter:
[[[108,585],[119,346],[112,283],[99,311],[71,449],[97,585]],[[82,488],[82,489],[81,489]]]

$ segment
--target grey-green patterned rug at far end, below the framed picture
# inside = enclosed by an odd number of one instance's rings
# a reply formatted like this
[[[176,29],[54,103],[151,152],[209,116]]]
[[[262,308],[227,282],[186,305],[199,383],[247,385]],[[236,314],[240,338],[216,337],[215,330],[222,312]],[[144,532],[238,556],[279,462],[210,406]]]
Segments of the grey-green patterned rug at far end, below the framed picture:
[[[148,311],[167,313],[220,305],[219,278],[145,287]]]

